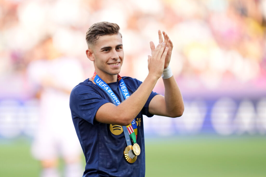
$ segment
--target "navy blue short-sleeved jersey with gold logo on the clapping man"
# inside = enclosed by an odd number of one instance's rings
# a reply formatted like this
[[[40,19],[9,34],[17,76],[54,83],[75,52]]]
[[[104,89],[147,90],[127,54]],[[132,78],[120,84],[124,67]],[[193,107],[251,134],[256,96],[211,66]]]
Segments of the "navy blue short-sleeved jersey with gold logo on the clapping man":
[[[130,95],[142,83],[131,77],[122,78]],[[108,85],[121,102],[118,83],[113,82]],[[74,87],[70,94],[70,110],[86,159],[83,176],[145,176],[145,144],[142,115],[153,116],[148,112],[148,106],[156,94],[156,92],[151,93],[143,109],[135,118],[138,127],[137,143],[141,148],[141,153],[138,155],[136,162],[128,163],[123,154],[127,144],[122,126],[99,123],[94,119],[99,107],[105,103],[113,103],[110,96],[89,79]]]

